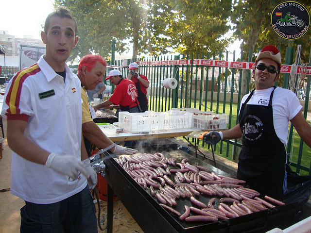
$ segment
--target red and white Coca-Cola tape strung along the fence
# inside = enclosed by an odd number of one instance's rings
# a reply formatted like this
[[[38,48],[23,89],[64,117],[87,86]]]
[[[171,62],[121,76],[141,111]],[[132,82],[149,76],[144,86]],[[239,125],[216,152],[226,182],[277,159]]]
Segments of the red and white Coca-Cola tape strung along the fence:
[[[229,61],[219,61],[219,60],[207,60],[207,59],[186,59],[186,60],[172,60],[172,61],[151,61],[151,62],[138,62],[139,65],[143,66],[167,66],[167,65],[193,65],[196,66],[213,66],[213,67],[228,67],[236,69],[255,69],[254,62],[229,62]],[[290,73],[292,65],[282,65],[281,73]],[[297,73],[301,72],[301,67],[297,67]],[[311,67],[304,67],[302,72],[306,74],[311,74]]]

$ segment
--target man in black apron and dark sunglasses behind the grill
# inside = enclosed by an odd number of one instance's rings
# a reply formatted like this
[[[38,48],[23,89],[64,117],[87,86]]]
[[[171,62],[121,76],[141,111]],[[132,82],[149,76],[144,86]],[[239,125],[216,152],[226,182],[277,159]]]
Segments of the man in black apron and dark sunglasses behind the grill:
[[[302,115],[294,92],[275,87],[281,68],[280,52],[265,46],[255,61],[255,89],[242,98],[239,124],[224,132],[209,132],[204,141],[216,144],[222,139],[242,136],[238,179],[264,195],[283,199],[286,191],[286,150],[288,124],[311,147],[311,126]]]

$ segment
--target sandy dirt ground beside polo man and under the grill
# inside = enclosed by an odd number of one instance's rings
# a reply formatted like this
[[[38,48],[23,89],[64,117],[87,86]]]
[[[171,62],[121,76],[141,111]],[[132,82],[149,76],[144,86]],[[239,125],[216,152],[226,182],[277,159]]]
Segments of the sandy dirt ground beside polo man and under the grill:
[[[2,150],[2,159],[0,159],[0,190],[10,188],[11,182],[11,150],[6,140],[6,120],[4,125],[4,147]],[[0,133],[1,135],[1,133]],[[2,135],[1,135],[2,136]],[[24,201],[8,192],[0,192],[0,233],[18,233],[20,228],[20,208],[24,206]],[[98,210],[97,203],[95,203]],[[100,200],[100,222],[103,231],[98,229],[99,233],[107,232],[106,229],[106,210],[107,202]],[[114,233],[142,233],[142,230],[129,214],[120,200],[114,201],[113,205],[113,232]],[[98,211],[96,217],[98,216]]]

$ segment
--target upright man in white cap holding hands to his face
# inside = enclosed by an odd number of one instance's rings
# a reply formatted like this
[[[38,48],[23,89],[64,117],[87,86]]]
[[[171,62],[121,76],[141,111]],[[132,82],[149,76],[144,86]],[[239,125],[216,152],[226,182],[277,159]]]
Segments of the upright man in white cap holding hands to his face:
[[[146,76],[138,73],[137,63],[131,63],[128,69],[127,79],[135,83],[141,111],[145,112],[148,110],[147,88],[149,87],[149,81]]]

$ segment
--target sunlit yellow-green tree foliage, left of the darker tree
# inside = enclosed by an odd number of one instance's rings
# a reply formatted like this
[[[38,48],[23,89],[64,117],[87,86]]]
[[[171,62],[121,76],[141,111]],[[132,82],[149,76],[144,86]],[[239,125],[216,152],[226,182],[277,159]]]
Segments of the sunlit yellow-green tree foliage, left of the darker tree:
[[[198,0],[55,0],[65,5],[78,23],[80,41],[72,58],[90,52],[109,56],[111,40],[116,51],[128,50],[133,58],[177,52],[222,50],[230,40],[222,38],[230,28],[231,1]]]

